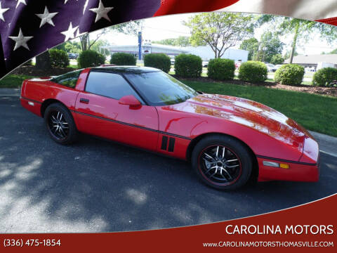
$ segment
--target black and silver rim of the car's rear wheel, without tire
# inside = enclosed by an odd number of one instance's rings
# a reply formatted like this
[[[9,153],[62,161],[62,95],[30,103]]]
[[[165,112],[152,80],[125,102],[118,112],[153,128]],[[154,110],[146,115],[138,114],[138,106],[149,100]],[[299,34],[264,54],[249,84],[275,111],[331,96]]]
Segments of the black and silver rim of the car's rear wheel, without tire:
[[[69,134],[69,124],[62,112],[55,110],[48,115],[48,129],[57,140],[67,138]]]

